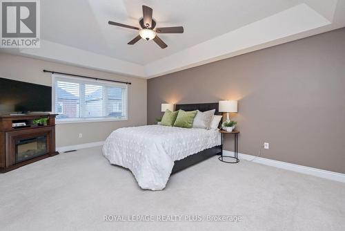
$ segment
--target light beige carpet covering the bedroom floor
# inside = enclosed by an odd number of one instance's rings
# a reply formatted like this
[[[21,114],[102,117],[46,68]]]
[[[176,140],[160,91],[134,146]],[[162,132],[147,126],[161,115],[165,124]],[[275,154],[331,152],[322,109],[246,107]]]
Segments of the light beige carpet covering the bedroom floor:
[[[181,221],[157,221],[172,215]],[[210,222],[208,215],[242,221]],[[160,192],[141,190],[100,147],[0,175],[0,230],[345,230],[344,219],[344,183],[244,160],[210,158],[171,176]]]

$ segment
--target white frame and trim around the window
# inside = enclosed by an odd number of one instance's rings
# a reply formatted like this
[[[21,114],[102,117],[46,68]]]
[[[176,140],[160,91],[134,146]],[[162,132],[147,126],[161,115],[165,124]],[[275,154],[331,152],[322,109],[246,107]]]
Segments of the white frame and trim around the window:
[[[71,77],[68,75],[62,74],[52,74],[52,113],[56,113],[55,111],[55,86],[56,86],[56,79],[63,78],[66,80],[75,80],[76,82],[88,82],[90,84],[106,84],[108,86],[119,86],[123,89],[126,89],[126,117],[125,118],[113,118],[113,117],[90,117],[90,118],[65,118],[65,119],[58,119],[56,118],[56,124],[70,124],[70,123],[79,123],[79,122],[107,122],[107,121],[127,121],[128,120],[128,84],[121,84],[115,82],[108,82],[104,80],[85,80],[82,77]],[[124,100],[122,100],[124,101]],[[124,104],[124,102],[121,102]],[[80,106],[79,106],[80,107]],[[124,106],[122,106],[124,107]]]

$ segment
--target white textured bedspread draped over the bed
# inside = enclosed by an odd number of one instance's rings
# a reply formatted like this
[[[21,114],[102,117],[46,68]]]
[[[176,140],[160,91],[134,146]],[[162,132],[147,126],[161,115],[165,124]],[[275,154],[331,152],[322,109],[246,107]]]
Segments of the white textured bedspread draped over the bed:
[[[130,169],[142,189],[163,190],[175,160],[217,145],[221,145],[218,131],[148,125],[113,131],[103,155]]]

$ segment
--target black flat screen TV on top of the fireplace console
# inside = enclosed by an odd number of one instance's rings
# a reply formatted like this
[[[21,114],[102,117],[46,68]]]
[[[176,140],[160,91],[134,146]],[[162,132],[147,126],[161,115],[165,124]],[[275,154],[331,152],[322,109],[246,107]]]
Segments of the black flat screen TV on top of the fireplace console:
[[[50,112],[52,88],[0,77],[0,114]]]

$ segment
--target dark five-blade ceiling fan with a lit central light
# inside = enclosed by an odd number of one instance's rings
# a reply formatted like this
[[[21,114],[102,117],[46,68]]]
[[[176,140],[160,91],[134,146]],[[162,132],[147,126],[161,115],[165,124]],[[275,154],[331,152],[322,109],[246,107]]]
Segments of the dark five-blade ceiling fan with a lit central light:
[[[161,27],[156,28],[156,21],[152,19],[152,8],[149,8],[148,6],[143,6],[143,18],[139,20],[139,24],[141,26],[141,29],[135,26],[128,26],[126,24],[119,24],[115,21],[108,21],[108,24],[113,26],[121,26],[124,28],[129,28],[133,30],[139,30],[139,35],[132,39],[130,42],[128,42],[129,45],[135,44],[137,41],[139,41],[141,38],[148,40],[153,39],[158,46],[160,46],[162,49],[166,48],[168,45],[164,43],[158,36],[157,33],[162,34],[170,34],[170,33],[184,33],[184,27],[183,26],[172,26],[172,27]]]

